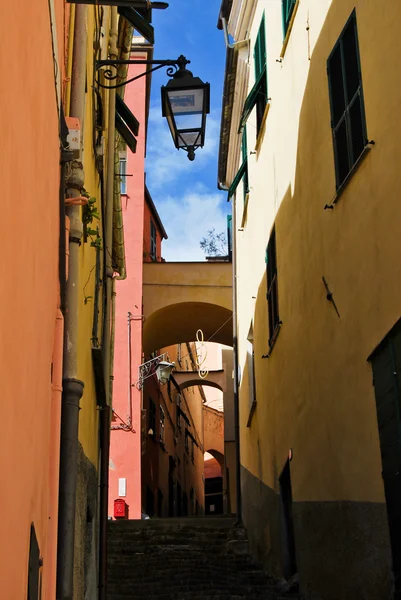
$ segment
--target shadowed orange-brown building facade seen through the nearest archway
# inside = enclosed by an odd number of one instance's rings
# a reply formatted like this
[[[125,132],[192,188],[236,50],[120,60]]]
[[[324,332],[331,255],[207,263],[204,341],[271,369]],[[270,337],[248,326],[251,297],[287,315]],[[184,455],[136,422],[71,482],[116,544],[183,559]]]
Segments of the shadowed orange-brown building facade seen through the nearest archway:
[[[163,348],[182,371],[196,371],[194,343]],[[202,386],[185,390],[174,372],[167,385],[145,380],[142,421],[142,506],[149,516],[204,513],[204,413]]]

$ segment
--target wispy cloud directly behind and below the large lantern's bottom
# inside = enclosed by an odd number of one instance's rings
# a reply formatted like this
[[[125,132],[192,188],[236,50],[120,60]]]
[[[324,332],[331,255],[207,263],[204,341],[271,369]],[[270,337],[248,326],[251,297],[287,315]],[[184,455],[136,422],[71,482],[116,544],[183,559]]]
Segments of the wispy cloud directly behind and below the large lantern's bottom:
[[[160,115],[159,107],[150,110],[149,130],[152,133],[148,136],[146,172],[152,193],[177,179],[189,181],[189,178],[205,169],[210,161],[216,160],[220,122],[214,115],[207,117],[205,145],[196,151],[193,162],[188,160],[184,150],[174,148],[170,130]]]

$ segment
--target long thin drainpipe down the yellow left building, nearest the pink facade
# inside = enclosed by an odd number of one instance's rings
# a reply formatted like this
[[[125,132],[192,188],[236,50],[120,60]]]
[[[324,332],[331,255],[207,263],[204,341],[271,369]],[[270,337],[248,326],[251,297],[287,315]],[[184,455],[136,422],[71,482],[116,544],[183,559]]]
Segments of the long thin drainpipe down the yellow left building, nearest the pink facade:
[[[110,47],[111,59],[118,58],[118,12],[111,7]],[[112,382],[112,347],[114,344],[114,298],[113,280],[113,209],[114,209],[114,154],[115,154],[115,112],[116,90],[109,90],[109,119],[107,140],[107,180],[105,214],[105,251],[106,251],[106,305],[103,319],[103,369],[107,406],[100,411],[100,508],[99,508],[99,600],[107,596],[107,521],[108,521],[108,485],[110,453],[110,411]],[[114,295],[113,295],[114,294]]]

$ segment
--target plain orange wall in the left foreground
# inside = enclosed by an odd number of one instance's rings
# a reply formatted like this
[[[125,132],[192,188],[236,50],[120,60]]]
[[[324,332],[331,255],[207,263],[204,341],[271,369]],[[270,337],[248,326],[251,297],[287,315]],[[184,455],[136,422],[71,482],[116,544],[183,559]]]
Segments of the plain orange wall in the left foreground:
[[[62,3],[56,8],[62,23]],[[53,600],[45,589],[53,577],[49,565],[55,550],[48,547],[47,537],[57,519],[49,489],[54,487],[51,477],[57,476],[51,435],[57,433],[60,408],[52,406],[51,379],[58,301],[59,142],[48,2],[1,2],[0,22],[0,377],[5,415],[0,436],[1,596],[27,597],[33,522],[44,561],[43,598]]]

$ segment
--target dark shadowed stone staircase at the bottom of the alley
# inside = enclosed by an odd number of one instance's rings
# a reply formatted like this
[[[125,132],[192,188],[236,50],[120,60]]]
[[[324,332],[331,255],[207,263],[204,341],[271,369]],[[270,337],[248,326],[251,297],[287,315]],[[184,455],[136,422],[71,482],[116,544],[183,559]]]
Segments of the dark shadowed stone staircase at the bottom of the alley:
[[[234,519],[109,521],[108,600],[289,600]]]

